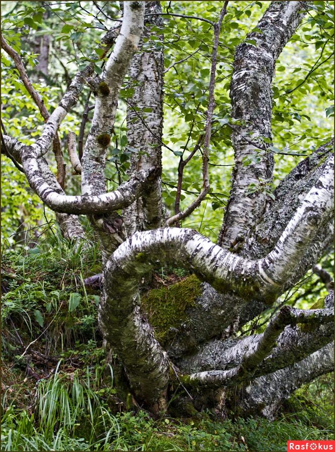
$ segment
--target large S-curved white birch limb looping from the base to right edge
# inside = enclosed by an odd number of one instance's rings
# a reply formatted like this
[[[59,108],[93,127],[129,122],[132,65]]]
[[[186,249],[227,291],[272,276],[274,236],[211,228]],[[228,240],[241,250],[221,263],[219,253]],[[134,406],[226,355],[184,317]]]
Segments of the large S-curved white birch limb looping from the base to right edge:
[[[318,228],[331,216],[332,179],[333,161],[328,163],[315,187],[305,197],[275,249],[263,259],[244,259],[214,245],[195,231],[177,228],[135,233],[114,252],[104,269],[105,294],[99,321],[107,342],[121,357],[140,399],[144,397],[153,406],[161,405],[169,371],[166,352],[140,313],[142,276],[157,262],[173,262],[191,269],[220,292],[227,291],[248,299],[256,296],[258,300],[272,303],[290,277],[289,262],[299,262]],[[263,359],[267,350],[265,341],[258,356]],[[146,375],[145,380],[141,378],[143,375]]]

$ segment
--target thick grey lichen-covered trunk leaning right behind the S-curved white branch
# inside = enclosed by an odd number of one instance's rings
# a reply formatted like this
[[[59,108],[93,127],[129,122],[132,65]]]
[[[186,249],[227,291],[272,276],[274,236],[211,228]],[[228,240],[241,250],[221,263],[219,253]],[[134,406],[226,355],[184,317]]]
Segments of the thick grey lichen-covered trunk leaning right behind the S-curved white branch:
[[[257,260],[273,250],[301,201],[316,184],[329,159],[332,158],[329,151],[331,145],[332,142],[318,148],[282,181],[275,191],[276,201],[266,211],[255,234],[245,243],[241,251],[242,256]],[[330,220],[318,228],[278,296],[296,284],[318,261],[331,245],[332,237],[333,224]],[[182,356],[197,344],[204,343],[212,337],[222,333],[231,334],[267,308],[267,304],[253,297],[251,293],[248,301],[245,301],[230,293],[218,293],[205,283],[201,296],[187,309],[187,320],[178,327],[178,334],[174,334],[173,345],[171,350],[168,350],[169,355]]]

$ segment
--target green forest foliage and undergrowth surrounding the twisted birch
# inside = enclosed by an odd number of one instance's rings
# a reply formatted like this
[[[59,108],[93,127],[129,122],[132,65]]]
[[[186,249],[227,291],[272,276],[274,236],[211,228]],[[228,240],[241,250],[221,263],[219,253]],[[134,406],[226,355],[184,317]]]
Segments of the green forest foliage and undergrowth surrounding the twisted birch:
[[[163,12],[212,20],[220,2],[161,2]],[[234,151],[229,122],[230,78],[234,51],[253,30],[270,2],[230,2],[218,47],[210,145],[211,190],[182,222],[215,241],[231,188]],[[261,181],[250,193],[272,191],[305,156],[333,133],[333,4],[312,2],[280,55],[273,78],[272,129],[275,143],[273,183]],[[74,74],[85,65],[101,32],[121,17],[117,2],[2,2],[3,35],[21,55],[34,87],[52,111]],[[173,213],[179,158],[203,129],[210,75],[212,32],[208,23],[164,16],[163,201]],[[159,30],[158,30],[159,31]],[[150,48],[155,41],[145,40]],[[101,73],[101,63],[96,67]],[[2,127],[25,144],[43,130],[43,118],[10,57],[2,52]],[[108,190],[127,180],[133,152],[127,142],[125,114],[132,87],[123,85],[105,176]],[[59,129],[84,137],[93,110],[86,87]],[[254,155],[252,159],[258,158]],[[53,162],[50,151],[48,160]],[[72,175],[67,153],[67,194],[77,194],[80,176]],[[246,164],[250,163],[248,161]],[[53,164],[56,172],[56,166]],[[181,206],[201,190],[201,155],[184,170]],[[285,403],[275,421],[250,415],[217,419],[211,412],[154,420],[129,394],[120,397],[115,369],[106,361],[97,326],[98,284],[85,280],[101,272],[101,250],[82,217],[89,252],[65,240],[54,212],[41,203],[25,175],[2,154],[2,450],[286,450],[287,439],[327,439],[333,431],[333,376],[303,386]],[[319,265],[331,274],[333,251]],[[188,273],[157,268],[156,290],[184,280]],[[94,279],[94,278],[93,278]],[[170,292],[174,289],[170,287]],[[309,309],[327,287],[309,271],[277,300],[275,307],[239,334],[262,332],[274,308],[286,303]]]

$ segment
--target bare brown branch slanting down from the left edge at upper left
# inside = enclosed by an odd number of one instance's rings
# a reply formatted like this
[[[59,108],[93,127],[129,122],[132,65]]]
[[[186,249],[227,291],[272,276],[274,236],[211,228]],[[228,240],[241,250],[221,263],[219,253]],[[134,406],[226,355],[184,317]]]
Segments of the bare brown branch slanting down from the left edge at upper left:
[[[1,37],[1,47],[13,59],[13,61],[15,63],[15,67],[19,71],[20,78],[23,81],[23,84],[25,85],[31,98],[34,100],[34,102],[38,106],[41,116],[44,119],[44,122],[46,123],[48,121],[50,115],[44,105],[41,95],[33,87],[32,83],[27,75],[26,69],[23,65],[20,55],[6,42],[6,40],[3,36]],[[63,160],[63,153],[62,153],[62,148],[60,145],[58,133],[56,133],[55,138],[53,140],[53,152],[55,154],[55,159],[56,159],[56,163],[57,163],[57,181],[58,181],[59,185],[64,189],[65,164],[64,164],[64,160]]]

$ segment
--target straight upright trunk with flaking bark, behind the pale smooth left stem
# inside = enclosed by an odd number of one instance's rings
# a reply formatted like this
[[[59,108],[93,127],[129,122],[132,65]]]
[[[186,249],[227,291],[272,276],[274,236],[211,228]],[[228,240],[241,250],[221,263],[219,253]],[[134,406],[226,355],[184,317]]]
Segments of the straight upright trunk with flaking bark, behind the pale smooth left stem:
[[[145,14],[161,13],[160,2],[145,2]],[[134,151],[131,155],[129,176],[151,167],[162,170],[162,129],[163,129],[163,35],[152,27],[162,29],[160,16],[148,16],[145,21],[143,38],[155,37],[149,49],[143,39],[129,68],[130,86],[134,94],[127,101],[127,139]],[[127,236],[136,231],[161,227],[162,188],[160,179],[142,198],[138,198],[123,213]]]

